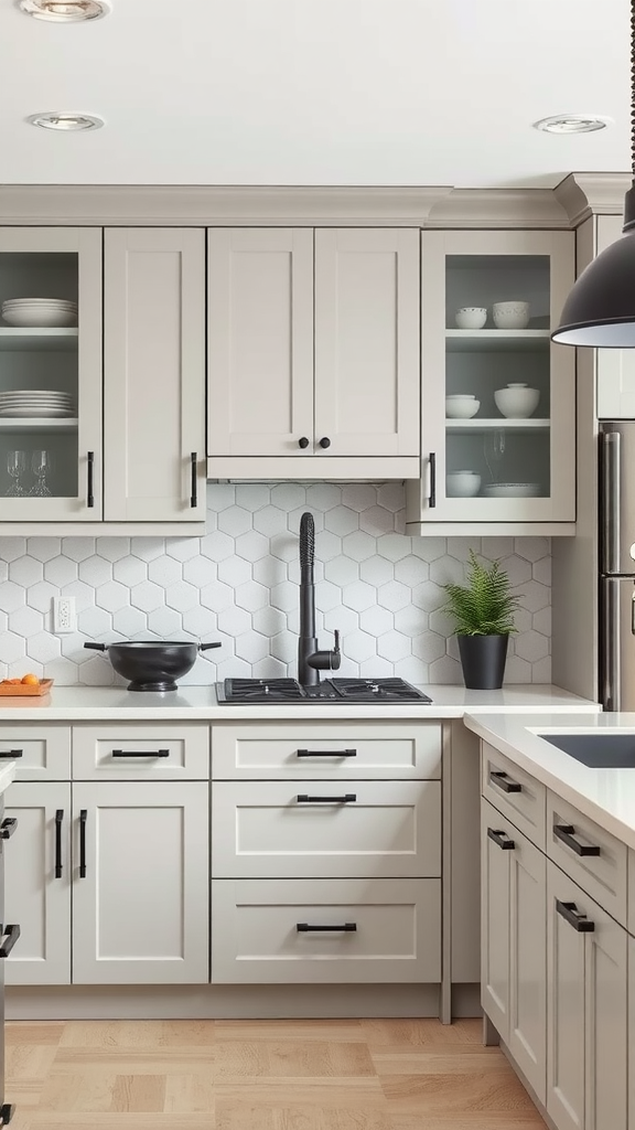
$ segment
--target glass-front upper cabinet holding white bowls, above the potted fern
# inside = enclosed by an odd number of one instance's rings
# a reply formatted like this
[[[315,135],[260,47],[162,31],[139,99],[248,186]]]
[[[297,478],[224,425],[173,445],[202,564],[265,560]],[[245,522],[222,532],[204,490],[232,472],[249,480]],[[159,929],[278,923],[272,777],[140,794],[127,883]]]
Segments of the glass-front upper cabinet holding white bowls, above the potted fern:
[[[418,521],[574,522],[573,234],[426,232],[421,271]]]

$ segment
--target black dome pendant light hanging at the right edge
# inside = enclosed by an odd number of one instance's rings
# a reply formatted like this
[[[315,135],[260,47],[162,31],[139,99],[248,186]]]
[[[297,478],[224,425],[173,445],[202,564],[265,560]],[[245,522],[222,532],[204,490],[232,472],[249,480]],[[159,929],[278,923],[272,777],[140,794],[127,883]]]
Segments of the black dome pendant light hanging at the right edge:
[[[630,2],[630,164],[624,235],[575,282],[553,341],[566,346],[635,349],[635,0]]]

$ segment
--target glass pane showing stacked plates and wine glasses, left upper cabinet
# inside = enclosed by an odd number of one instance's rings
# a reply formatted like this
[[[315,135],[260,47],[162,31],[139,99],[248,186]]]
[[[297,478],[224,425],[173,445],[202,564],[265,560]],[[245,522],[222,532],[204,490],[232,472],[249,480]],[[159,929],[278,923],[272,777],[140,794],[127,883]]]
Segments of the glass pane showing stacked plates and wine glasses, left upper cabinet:
[[[78,266],[71,252],[0,253],[3,497],[78,495]]]

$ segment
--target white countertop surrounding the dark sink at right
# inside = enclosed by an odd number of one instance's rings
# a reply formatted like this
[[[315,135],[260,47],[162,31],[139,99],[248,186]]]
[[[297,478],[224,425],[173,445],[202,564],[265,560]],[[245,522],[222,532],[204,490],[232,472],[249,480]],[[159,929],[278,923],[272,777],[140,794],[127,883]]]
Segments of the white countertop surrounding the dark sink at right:
[[[635,768],[589,768],[539,736],[573,729],[588,733],[623,730],[633,733],[635,740],[635,714],[579,714],[565,722],[562,714],[553,711],[513,715],[470,713],[463,721],[515,765],[635,849]]]

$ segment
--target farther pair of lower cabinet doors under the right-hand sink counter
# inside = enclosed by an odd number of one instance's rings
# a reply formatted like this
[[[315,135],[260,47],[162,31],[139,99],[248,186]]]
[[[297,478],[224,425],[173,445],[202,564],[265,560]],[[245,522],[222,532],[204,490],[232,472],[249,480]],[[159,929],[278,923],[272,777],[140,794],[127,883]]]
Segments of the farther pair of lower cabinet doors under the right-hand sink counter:
[[[546,1095],[546,859],[481,808],[481,1002],[536,1095]]]

